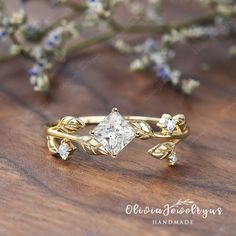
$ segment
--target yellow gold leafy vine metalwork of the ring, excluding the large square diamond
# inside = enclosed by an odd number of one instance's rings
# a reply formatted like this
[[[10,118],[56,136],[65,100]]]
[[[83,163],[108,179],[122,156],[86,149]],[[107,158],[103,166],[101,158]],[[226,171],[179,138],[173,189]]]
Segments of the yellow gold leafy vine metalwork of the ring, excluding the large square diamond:
[[[112,112],[118,112],[117,108],[113,108]],[[161,118],[146,116],[123,116],[136,132],[136,138],[158,139],[159,143],[150,148],[148,153],[155,158],[167,158],[169,166],[173,166],[175,161],[176,145],[189,135],[190,129],[187,126],[184,115],[170,116],[163,114]],[[79,118],[67,116],[49,126],[47,132],[47,144],[51,154],[58,155],[59,148],[62,143],[66,143],[67,152],[65,159],[71,157],[76,147],[73,143],[77,143],[79,147],[89,155],[105,155],[111,156],[110,153],[92,136],[92,132],[88,136],[75,135],[75,133],[86,127],[87,125],[95,125],[100,123],[105,116],[83,116]],[[166,124],[170,122],[169,129]],[[115,155],[112,155],[115,157]],[[64,158],[63,158],[64,159]]]

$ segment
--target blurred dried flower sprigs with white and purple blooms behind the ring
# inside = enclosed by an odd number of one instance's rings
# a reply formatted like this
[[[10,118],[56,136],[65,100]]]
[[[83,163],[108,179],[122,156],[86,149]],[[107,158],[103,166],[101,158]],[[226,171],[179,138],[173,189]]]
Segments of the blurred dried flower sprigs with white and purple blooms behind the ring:
[[[36,1],[18,1],[19,9],[11,12],[7,1],[0,0],[0,45],[9,45],[8,52],[1,52],[0,63],[19,56],[31,60],[29,82],[35,91],[44,93],[50,91],[53,75],[70,55],[108,42],[107,46],[129,58],[131,71],[151,70],[163,83],[190,95],[200,82],[172,66],[175,46],[236,35],[235,0],[194,1],[209,8],[209,14],[180,23],[165,17],[165,4],[161,0],[45,0],[52,15],[56,7],[65,8],[66,14],[56,20],[32,21],[28,17],[31,12],[25,9],[29,2]],[[120,9],[129,15],[128,22],[116,14]],[[88,28],[95,28],[95,33],[83,37]],[[138,42],[125,40],[127,34],[144,34],[144,38]],[[229,54],[236,54],[234,45]]]

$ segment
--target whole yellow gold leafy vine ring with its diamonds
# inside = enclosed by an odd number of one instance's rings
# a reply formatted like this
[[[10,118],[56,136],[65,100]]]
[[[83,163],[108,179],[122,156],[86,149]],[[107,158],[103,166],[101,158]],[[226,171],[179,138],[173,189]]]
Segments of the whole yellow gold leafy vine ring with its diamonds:
[[[89,135],[76,135],[76,131],[87,125],[96,125]],[[47,127],[47,144],[51,154],[67,160],[76,150],[73,143],[89,155],[116,157],[134,138],[158,139],[159,143],[148,150],[157,159],[168,160],[174,166],[177,157],[176,145],[188,136],[190,130],[182,114],[161,118],[144,116],[122,117],[117,108],[107,116],[66,116]]]

